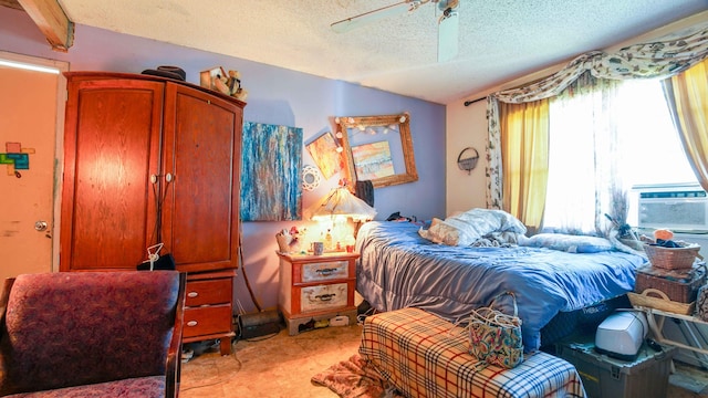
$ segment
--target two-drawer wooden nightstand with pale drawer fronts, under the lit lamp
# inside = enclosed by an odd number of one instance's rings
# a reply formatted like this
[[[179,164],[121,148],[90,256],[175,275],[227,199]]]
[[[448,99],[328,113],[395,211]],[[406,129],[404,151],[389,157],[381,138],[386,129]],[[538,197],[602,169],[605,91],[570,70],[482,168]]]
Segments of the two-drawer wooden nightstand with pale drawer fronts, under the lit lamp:
[[[278,306],[291,336],[310,321],[337,315],[356,323],[354,291],[358,253],[332,252],[322,255],[285,254],[280,258]]]

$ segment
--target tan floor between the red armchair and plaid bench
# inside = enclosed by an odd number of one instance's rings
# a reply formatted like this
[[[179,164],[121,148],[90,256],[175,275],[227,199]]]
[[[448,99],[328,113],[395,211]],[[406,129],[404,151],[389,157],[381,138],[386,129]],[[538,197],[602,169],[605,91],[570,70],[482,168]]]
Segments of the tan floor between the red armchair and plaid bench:
[[[183,364],[180,398],[336,398],[312,377],[358,352],[362,327],[324,327],[289,336],[278,335],[233,343],[231,355],[216,347]]]

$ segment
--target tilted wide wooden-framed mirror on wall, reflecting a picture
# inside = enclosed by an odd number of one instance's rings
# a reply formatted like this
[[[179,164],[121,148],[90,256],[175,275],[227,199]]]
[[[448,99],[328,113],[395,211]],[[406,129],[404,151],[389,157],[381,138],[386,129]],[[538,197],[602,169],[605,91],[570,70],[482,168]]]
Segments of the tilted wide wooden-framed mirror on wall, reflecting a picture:
[[[407,113],[340,116],[334,123],[348,181],[371,180],[381,188],[418,180]]]

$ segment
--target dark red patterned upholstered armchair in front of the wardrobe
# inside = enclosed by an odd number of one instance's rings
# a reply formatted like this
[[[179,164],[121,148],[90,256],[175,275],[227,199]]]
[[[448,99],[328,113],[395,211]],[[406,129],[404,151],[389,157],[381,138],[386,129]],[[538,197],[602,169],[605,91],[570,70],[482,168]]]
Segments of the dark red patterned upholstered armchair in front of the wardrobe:
[[[176,271],[6,280],[0,396],[176,397],[184,301]]]

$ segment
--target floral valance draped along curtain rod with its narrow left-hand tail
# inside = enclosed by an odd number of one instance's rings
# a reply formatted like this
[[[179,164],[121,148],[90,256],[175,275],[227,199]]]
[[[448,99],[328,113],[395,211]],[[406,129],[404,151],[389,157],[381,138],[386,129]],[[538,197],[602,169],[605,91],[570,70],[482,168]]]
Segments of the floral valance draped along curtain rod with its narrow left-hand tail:
[[[493,93],[487,98],[487,207],[503,203],[503,167],[499,102],[524,103],[559,95],[589,71],[602,78],[669,77],[708,57],[708,23],[665,36],[660,41],[626,46],[614,54],[600,51],[575,57],[558,73],[520,88]]]

